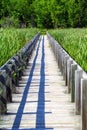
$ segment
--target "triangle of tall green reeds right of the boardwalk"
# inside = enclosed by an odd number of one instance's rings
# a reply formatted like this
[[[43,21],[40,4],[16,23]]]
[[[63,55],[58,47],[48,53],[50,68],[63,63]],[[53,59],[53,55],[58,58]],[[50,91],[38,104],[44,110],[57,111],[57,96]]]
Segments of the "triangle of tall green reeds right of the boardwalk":
[[[87,72],[87,29],[56,29],[49,33]]]

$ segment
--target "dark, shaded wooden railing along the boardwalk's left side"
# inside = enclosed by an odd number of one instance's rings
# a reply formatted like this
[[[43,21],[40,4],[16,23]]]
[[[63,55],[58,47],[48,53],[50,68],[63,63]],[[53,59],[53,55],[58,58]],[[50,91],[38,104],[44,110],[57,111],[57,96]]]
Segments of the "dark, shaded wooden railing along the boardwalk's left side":
[[[12,93],[16,92],[16,86],[26,68],[33,49],[39,39],[38,33],[28,44],[19,52],[11,57],[0,68],[0,113],[7,112],[7,102],[12,102]]]

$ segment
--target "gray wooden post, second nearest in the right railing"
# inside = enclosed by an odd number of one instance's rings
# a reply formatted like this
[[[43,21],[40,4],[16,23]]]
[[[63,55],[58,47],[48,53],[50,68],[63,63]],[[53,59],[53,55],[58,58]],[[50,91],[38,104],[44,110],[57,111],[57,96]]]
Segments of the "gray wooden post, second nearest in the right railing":
[[[76,114],[81,114],[81,78],[83,70],[75,71],[75,106]]]

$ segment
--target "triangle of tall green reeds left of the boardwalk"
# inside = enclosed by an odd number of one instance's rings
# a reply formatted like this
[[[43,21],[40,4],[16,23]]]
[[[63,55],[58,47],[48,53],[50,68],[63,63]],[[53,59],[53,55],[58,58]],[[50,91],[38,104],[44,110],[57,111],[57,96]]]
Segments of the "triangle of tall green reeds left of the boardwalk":
[[[38,29],[0,29],[0,66],[30,41]]]

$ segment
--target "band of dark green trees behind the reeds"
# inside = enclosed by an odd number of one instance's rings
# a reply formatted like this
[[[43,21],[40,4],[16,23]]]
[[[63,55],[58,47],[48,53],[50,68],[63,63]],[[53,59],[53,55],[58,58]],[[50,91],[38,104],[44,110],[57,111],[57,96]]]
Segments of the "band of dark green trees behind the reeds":
[[[86,0],[0,0],[1,27],[87,27]]]

